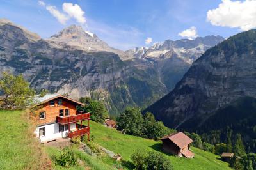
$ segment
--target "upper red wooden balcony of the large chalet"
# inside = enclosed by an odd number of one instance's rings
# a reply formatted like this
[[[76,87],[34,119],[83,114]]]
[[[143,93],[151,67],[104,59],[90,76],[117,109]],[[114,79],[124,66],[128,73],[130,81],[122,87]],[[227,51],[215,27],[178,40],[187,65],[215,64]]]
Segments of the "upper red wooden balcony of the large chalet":
[[[65,125],[68,123],[76,123],[77,121],[90,120],[90,112],[77,111],[74,116],[57,116],[57,123]]]

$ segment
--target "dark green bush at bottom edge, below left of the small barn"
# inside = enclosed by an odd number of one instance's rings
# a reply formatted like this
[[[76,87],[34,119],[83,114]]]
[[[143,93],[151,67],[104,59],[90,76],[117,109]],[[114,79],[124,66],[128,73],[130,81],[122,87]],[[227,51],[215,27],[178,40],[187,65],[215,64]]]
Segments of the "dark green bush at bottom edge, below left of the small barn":
[[[132,154],[131,160],[136,169],[173,169],[170,160],[162,153],[158,153],[156,151],[146,153],[144,150],[137,150],[134,154]]]

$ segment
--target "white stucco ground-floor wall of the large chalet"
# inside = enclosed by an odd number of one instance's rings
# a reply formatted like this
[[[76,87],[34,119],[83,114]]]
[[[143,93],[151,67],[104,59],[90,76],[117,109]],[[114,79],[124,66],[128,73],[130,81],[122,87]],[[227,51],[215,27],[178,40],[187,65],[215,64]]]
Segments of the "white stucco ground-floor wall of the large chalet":
[[[50,125],[36,127],[36,130],[35,130],[36,137],[39,137],[39,128],[43,128],[43,127],[45,127],[45,136],[40,137],[41,143],[66,137],[66,134],[68,132],[68,130],[64,132],[59,132],[59,123],[52,123]],[[70,124],[70,130],[74,130],[75,128],[76,128],[76,123]]]

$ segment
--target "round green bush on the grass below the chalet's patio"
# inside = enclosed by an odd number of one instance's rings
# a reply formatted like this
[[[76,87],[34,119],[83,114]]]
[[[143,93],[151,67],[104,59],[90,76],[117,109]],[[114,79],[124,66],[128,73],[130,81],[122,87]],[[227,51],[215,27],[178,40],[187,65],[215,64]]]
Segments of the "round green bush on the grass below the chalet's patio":
[[[66,168],[78,165],[76,153],[70,147],[61,150],[60,155],[54,157],[53,160],[56,165]]]

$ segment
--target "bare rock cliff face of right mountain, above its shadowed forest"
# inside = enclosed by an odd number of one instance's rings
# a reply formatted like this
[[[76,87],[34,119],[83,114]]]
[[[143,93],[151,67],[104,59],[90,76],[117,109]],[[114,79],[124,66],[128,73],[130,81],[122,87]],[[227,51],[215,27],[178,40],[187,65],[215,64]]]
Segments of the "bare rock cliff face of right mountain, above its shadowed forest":
[[[157,120],[198,130],[216,111],[256,97],[256,31],[232,36],[198,58],[172,92],[151,105]]]

